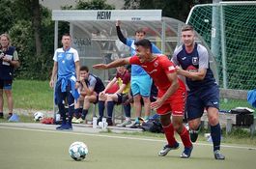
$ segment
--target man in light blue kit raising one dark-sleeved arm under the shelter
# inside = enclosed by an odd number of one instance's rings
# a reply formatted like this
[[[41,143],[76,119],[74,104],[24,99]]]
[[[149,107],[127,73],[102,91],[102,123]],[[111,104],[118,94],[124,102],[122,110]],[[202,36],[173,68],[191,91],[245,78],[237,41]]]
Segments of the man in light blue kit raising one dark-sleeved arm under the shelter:
[[[146,32],[142,29],[139,29],[135,32],[135,40],[127,39],[124,37],[120,30],[120,24],[121,21],[117,20],[116,22],[116,30],[118,38],[121,42],[128,45],[130,47],[130,55],[135,55],[135,45],[134,42],[142,40],[145,38]],[[153,53],[161,53],[160,50],[156,47],[155,44],[152,45],[152,51]],[[151,114],[151,86],[152,86],[152,78],[150,75],[143,70],[138,65],[131,65],[131,80],[130,80],[130,88],[131,93],[133,96],[133,106],[135,110],[135,122],[134,124],[131,124],[128,127],[139,127],[140,121],[139,118],[141,116],[141,110],[142,110],[142,104],[141,104],[141,98],[144,101],[144,110],[145,110],[145,117],[144,120],[149,120],[150,114]]]

